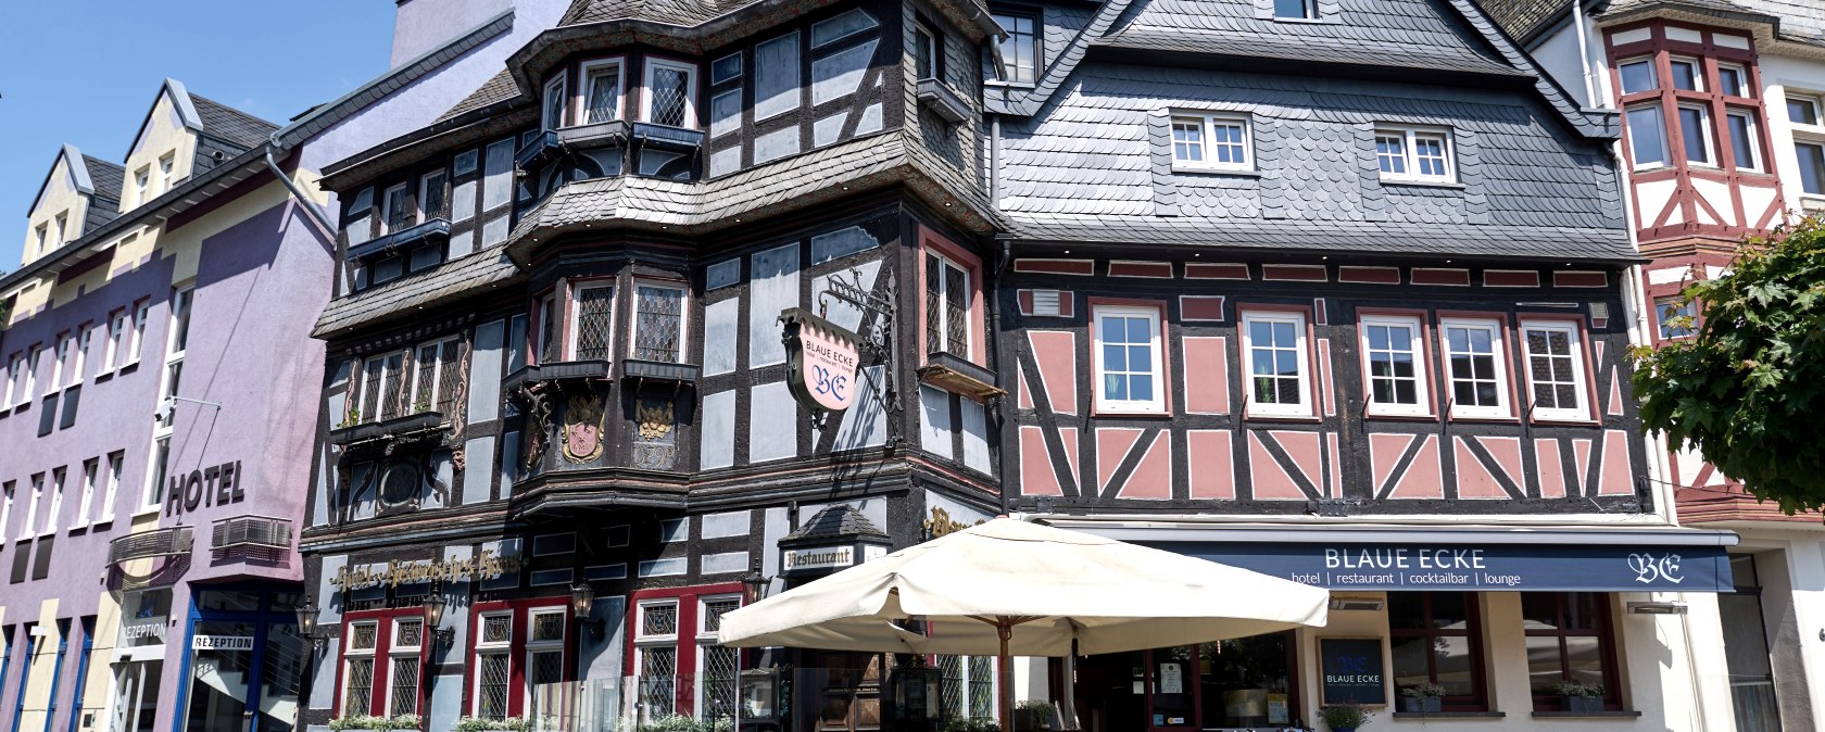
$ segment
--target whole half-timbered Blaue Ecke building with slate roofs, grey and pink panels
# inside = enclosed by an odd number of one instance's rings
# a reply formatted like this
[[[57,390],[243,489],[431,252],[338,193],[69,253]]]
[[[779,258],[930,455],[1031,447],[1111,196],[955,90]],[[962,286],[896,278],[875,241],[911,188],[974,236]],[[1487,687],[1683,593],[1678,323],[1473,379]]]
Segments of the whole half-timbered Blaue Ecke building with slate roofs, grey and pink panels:
[[[305,725],[993,716],[715,630],[1015,513],[1332,591],[1022,661],[1088,730],[1728,728],[1617,135],[1456,0],[577,0],[325,166]]]

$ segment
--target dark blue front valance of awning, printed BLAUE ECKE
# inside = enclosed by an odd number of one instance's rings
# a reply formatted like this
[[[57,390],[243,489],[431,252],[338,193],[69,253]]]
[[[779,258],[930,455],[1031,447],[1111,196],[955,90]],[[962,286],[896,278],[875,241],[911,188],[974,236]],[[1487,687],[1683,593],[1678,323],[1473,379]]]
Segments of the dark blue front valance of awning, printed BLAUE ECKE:
[[[1316,542],[1153,546],[1329,590],[1734,590],[1730,559],[1723,546]]]

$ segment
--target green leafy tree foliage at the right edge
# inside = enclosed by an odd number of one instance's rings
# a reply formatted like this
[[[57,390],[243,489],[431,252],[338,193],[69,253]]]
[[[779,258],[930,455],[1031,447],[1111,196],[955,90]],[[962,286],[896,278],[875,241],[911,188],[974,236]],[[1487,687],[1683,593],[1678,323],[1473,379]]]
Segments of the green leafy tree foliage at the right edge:
[[[1825,507],[1825,219],[1750,237],[1692,301],[1672,325],[1694,338],[1633,350],[1642,427],[1788,515]]]

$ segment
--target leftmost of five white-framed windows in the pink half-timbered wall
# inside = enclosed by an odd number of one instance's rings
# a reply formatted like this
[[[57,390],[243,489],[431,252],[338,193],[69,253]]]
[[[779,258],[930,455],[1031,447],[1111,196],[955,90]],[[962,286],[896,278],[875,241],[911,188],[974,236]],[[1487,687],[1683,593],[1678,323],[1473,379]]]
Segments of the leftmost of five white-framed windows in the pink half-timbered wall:
[[[1095,305],[1097,411],[1164,413],[1161,312],[1146,305]]]

